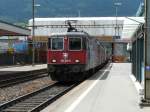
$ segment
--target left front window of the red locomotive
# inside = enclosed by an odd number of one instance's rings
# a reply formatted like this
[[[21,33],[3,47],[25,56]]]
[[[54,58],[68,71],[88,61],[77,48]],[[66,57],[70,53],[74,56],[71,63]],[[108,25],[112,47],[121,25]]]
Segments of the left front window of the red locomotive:
[[[52,50],[63,50],[64,48],[64,38],[52,38]]]

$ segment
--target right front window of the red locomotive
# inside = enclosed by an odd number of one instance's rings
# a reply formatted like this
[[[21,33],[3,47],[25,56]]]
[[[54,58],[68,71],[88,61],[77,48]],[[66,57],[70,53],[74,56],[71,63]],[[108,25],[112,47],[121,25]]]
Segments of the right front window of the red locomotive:
[[[81,38],[69,38],[69,50],[81,50]]]

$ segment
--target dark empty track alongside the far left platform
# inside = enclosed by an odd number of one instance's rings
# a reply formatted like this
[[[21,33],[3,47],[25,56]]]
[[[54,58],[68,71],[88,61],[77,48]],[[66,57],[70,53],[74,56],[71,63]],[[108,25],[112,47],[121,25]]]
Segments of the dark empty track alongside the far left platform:
[[[41,72],[30,72],[30,73],[25,73],[25,74],[20,74],[20,75],[13,75],[10,77],[9,75],[7,75],[6,78],[0,79],[0,88],[4,88],[4,87],[8,87],[8,86],[12,86],[14,84],[18,84],[18,83],[22,83],[25,81],[29,81],[29,80],[33,80],[36,78],[41,78],[41,77],[45,77],[47,76],[47,71],[41,71]]]

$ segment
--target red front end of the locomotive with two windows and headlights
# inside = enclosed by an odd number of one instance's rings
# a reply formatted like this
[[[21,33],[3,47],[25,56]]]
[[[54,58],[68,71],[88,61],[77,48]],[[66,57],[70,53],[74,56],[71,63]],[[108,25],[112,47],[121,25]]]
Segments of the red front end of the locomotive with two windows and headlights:
[[[74,76],[85,71],[86,39],[87,35],[83,32],[52,34],[49,37],[47,60],[52,80],[63,81],[65,77],[71,81],[76,80]]]

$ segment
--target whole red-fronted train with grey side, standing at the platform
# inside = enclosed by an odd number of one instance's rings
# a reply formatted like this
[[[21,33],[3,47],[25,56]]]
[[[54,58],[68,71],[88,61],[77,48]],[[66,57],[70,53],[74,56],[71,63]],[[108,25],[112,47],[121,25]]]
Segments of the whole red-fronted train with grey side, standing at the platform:
[[[48,73],[56,81],[80,81],[104,65],[105,47],[82,31],[55,33],[48,38]]]

